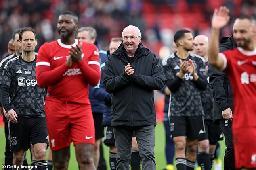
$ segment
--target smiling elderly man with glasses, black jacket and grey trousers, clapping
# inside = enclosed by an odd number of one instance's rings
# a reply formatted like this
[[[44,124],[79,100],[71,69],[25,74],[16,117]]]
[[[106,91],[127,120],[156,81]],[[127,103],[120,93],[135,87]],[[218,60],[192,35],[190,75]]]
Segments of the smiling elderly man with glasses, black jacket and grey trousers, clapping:
[[[111,126],[117,149],[117,170],[129,170],[132,133],[135,131],[143,170],[155,170],[154,90],[164,87],[159,59],[141,44],[138,27],[122,32],[123,42],[107,58],[103,86],[112,93]]]

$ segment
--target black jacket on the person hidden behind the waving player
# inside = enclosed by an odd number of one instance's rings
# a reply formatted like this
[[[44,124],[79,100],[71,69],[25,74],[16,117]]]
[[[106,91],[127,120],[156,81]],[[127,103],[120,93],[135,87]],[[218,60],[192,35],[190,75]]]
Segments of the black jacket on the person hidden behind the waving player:
[[[223,37],[220,40],[220,52],[237,47],[233,37]],[[231,108],[233,113],[233,91],[229,81],[229,77],[225,72],[218,72],[212,67],[209,68],[210,84],[212,86],[212,95],[214,98],[213,112],[214,123],[218,124],[219,120],[223,119],[222,111]],[[233,113],[234,114],[234,113]]]

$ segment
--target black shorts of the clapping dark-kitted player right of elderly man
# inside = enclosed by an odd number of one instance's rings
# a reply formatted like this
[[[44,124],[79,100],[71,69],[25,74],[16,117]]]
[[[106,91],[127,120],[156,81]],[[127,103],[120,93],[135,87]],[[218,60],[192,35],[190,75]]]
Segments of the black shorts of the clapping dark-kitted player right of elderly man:
[[[172,138],[198,139],[205,135],[203,116],[171,116],[169,119]]]

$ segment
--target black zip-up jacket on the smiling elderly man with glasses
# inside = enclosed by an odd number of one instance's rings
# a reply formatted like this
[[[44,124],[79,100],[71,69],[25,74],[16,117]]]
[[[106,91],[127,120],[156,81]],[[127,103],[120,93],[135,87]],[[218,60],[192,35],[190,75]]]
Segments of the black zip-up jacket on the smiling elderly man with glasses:
[[[132,63],[132,76],[124,70],[128,63],[123,43],[105,62],[103,86],[112,93],[111,126],[156,125],[154,90],[164,87],[159,59],[140,43]]]

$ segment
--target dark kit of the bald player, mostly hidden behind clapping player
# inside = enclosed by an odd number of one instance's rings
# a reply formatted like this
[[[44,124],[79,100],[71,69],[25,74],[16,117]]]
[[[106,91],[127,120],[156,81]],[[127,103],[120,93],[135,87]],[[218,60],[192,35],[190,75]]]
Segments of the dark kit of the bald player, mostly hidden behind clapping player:
[[[212,67],[209,62],[205,63],[209,69]],[[213,123],[213,96],[211,92],[211,85],[209,84],[209,75],[207,77],[208,84],[206,90],[201,91],[201,100],[204,109],[204,124],[206,128],[206,134],[204,137],[198,139],[198,141],[202,141],[205,139],[209,140],[209,143],[212,145],[216,145],[219,140],[223,140],[222,131],[220,129],[220,125],[216,125]]]

